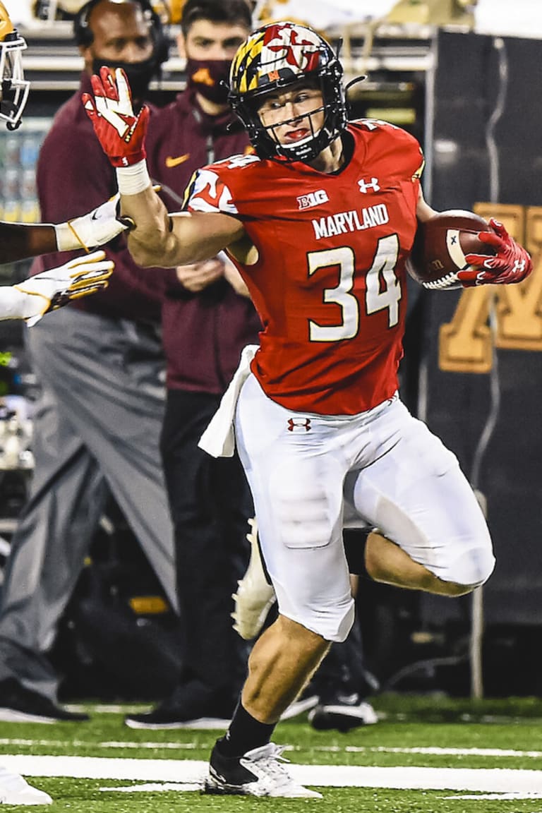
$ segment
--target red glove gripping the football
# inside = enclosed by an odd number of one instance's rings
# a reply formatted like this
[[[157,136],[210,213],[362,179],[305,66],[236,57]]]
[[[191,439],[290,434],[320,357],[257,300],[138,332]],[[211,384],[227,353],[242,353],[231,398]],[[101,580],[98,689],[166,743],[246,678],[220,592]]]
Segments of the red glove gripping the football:
[[[509,285],[521,282],[532,271],[531,254],[509,236],[503,224],[492,218],[492,232],[480,232],[478,238],[496,250],[493,257],[466,254],[466,262],[475,266],[457,274],[464,288],[472,285]]]

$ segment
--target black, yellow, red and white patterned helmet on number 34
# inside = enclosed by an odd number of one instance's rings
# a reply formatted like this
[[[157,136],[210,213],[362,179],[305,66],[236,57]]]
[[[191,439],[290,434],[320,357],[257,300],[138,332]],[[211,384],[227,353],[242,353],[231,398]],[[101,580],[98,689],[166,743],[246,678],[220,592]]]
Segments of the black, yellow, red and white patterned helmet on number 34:
[[[237,50],[230,71],[228,101],[249,134],[262,159],[280,156],[289,161],[309,162],[345,129],[347,111],[342,86],[343,68],[332,46],[308,26],[280,22],[258,28]],[[323,126],[292,145],[281,145],[272,125],[265,127],[258,107],[265,93],[290,89],[296,82],[314,80],[322,91]],[[287,124],[284,121],[282,124]]]

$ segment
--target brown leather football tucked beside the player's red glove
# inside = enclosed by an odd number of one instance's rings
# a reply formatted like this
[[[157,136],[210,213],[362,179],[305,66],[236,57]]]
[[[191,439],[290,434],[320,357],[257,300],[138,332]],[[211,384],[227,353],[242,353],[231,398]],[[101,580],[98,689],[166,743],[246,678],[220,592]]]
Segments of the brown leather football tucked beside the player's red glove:
[[[430,290],[462,288],[457,272],[469,267],[465,254],[495,254],[492,246],[478,239],[479,232],[491,231],[487,221],[472,211],[440,212],[418,224],[406,270]]]

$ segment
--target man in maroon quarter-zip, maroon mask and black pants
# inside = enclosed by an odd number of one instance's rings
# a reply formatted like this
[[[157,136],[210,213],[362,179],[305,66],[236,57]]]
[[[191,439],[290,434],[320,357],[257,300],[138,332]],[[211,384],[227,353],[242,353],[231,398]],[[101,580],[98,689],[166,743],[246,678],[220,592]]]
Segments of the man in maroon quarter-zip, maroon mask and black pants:
[[[199,167],[252,151],[223,84],[250,27],[245,0],[188,0],[184,6],[179,46],[187,58],[187,87],[151,117],[147,141],[150,172],[170,211],[182,207],[184,189]],[[197,441],[242,348],[258,341],[261,323],[225,257],[165,273],[167,404],[161,448],[175,528],[184,674],[154,710],[126,718],[132,728],[229,720],[246,668],[230,615],[236,580],[248,561],[252,501],[239,460],[213,459]]]

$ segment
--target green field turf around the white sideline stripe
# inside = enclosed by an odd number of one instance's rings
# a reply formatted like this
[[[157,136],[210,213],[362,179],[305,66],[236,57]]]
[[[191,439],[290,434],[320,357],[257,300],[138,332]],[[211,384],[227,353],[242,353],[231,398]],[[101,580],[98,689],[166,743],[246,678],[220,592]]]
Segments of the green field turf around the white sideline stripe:
[[[538,698],[470,702],[387,695],[375,698],[374,706],[380,715],[376,725],[348,734],[315,732],[305,716],[280,724],[274,740],[293,746],[285,755],[300,764],[515,768],[542,776],[542,701]],[[119,711],[105,713],[93,704],[85,708],[92,719],[83,724],[0,724],[0,754],[206,760],[217,736],[206,731],[132,730],[124,726],[124,714]],[[427,754],[423,749],[445,749],[448,753]],[[472,749],[476,753],[468,751]],[[485,753],[488,750],[491,753]],[[100,790],[146,784],[150,780],[144,776],[139,782],[70,776],[28,776],[28,780],[54,798],[54,804],[47,808],[50,813],[542,813],[542,792],[533,798],[486,799],[476,798],[480,793],[462,790],[320,787],[322,800],[281,800],[208,797],[197,791]],[[540,780],[538,786],[542,787]],[[465,794],[474,798],[446,798]]]

